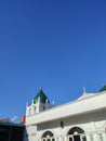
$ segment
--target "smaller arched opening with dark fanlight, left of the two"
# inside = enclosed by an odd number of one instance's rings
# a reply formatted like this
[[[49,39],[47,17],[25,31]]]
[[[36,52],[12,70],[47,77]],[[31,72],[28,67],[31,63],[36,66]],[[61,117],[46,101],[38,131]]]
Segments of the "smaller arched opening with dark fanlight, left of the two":
[[[51,131],[45,131],[42,134],[41,141],[55,141],[54,134]]]

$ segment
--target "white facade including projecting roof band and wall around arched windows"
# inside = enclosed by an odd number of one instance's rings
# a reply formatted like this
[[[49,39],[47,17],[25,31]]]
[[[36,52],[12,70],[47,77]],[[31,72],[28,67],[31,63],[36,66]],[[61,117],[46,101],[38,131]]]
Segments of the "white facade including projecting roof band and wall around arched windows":
[[[61,127],[61,121],[64,123],[64,128]],[[67,132],[76,126],[84,130],[87,141],[91,141],[91,136],[94,141],[100,141],[100,133],[106,141],[106,93],[26,117],[28,141],[41,141],[42,134],[48,130],[54,133],[56,141],[66,141]]]

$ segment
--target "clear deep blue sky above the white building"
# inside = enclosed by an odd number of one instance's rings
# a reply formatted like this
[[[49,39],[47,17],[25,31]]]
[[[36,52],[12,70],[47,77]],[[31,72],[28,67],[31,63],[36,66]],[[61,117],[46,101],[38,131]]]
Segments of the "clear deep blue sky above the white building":
[[[0,118],[43,91],[63,104],[106,84],[106,1],[0,1]]]

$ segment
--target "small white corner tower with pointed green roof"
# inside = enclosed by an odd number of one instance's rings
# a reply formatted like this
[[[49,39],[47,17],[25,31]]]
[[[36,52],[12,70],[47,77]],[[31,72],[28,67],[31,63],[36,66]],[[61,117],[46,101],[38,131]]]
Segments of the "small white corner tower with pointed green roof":
[[[44,94],[42,87],[39,88],[38,94],[32,99],[31,105],[26,106],[26,116],[35,115],[48,108],[51,108],[53,105],[50,104],[48,97]]]

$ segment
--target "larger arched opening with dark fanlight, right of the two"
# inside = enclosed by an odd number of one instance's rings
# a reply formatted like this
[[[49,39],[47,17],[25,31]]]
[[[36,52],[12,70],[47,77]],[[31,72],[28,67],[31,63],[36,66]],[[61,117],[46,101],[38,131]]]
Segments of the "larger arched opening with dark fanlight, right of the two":
[[[68,131],[68,141],[87,141],[84,130],[80,127],[74,127]]]

